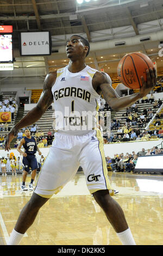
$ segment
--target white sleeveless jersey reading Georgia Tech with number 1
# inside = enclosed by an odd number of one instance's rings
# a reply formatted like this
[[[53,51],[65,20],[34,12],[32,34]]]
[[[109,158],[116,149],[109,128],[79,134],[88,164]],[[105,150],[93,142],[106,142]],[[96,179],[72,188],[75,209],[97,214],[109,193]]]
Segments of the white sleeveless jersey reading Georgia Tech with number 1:
[[[96,72],[90,66],[77,73],[70,72],[68,66],[57,70],[52,87],[56,131],[83,135],[97,127],[100,95],[92,87]]]

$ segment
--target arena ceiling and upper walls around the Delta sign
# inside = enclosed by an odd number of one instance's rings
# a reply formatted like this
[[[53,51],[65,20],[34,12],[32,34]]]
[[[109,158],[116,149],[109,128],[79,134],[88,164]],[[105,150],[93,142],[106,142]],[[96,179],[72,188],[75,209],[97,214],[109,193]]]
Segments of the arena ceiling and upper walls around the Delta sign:
[[[85,0],[84,0],[85,1]],[[64,46],[66,39],[73,34],[80,34],[91,44],[106,40],[120,40],[149,33],[162,32],[163,40],[163,2],[162,0],[90,0],[78,4],[76,0],[0,0],[0,25],[13,26],[15,69],[23,69],[20,76],[45,75],[49,70],[55,70],[67,64],[64,53],[55,53],[58,47]],[[52,35],[52,55],[48,57],[21,58],[18,54],[20,32],[49,31]],[[133,51],[145,52],[148,55],[158,53],[158,41],[144,42],[134,46]],[[146,45],[145,45],[146,44]],[[131,47],[130,46],[130,47]],[[115,72],[118,60],[125,50],[108,52],[90,52],[87,64],[93,68],[107,69]],[[127,52],[131,52],[126,48]],[[152,51],[152,52],[151,52]],[[159,60],[158,60],[159,61]],[[161,59],[160,59],[160,64]],[[35,71],[25,68],[36,68]],[[37,70],[37,71],[36,71]],[[105,70],[106,71],[106,70]],[[19,75],[18,71],[14,74]],[[11,72],[10,72],[11,74]],[[5,76],[7,73],[0,74]]]

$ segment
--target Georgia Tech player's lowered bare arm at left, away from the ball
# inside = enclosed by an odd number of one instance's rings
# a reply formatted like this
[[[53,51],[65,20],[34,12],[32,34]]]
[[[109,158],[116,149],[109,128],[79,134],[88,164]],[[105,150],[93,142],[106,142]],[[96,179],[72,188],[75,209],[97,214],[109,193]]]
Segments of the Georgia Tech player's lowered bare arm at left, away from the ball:
[[[40,96],[39,101],[37,102],[36,107],[31,109],[9,132],[7,139],[5,141],[5,150],[10,150],[10,143],[12,139],[17,136],[18,130],[23,127],[30,126],[36,123],[39,120],[43,113],[46,112],[49,106],[51,106],[53,102],[53,94],[52,94],[52,86],[55,83],[57,77],[57,72],[49,73],[43,84],[43,92]]]

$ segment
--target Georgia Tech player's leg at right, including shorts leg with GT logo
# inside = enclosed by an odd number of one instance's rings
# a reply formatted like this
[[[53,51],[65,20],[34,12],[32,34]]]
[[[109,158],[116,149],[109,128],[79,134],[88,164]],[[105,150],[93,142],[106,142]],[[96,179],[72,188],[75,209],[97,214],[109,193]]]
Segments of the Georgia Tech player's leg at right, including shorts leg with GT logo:
[[[103,138],[86,144],[80,155],[80,163],[86,176],[86,184],[96,202],[104,210],[106,217],[124,245],[134,245],[121,206],[110,196],[110,183],[103,150]],[[122,236],[122,237],[121,237]]]

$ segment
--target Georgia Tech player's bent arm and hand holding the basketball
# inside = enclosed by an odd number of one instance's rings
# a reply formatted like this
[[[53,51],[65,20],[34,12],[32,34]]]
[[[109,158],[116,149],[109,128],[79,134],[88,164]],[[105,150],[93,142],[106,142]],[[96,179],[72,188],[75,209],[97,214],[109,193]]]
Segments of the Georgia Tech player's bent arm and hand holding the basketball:
[[[147,95],[156,84],[156,70],[149,69],[147,72],[147,82],[142,80],[142,88],[139,93],[131,94],[128,96],[120,97],[114,88],[111,86],[111,79],[104,73],[99,76],[99,88],[104,95],[105,101],[108,105],[116,111],[133,105],[137,100],[140,100],[143,96]]]

